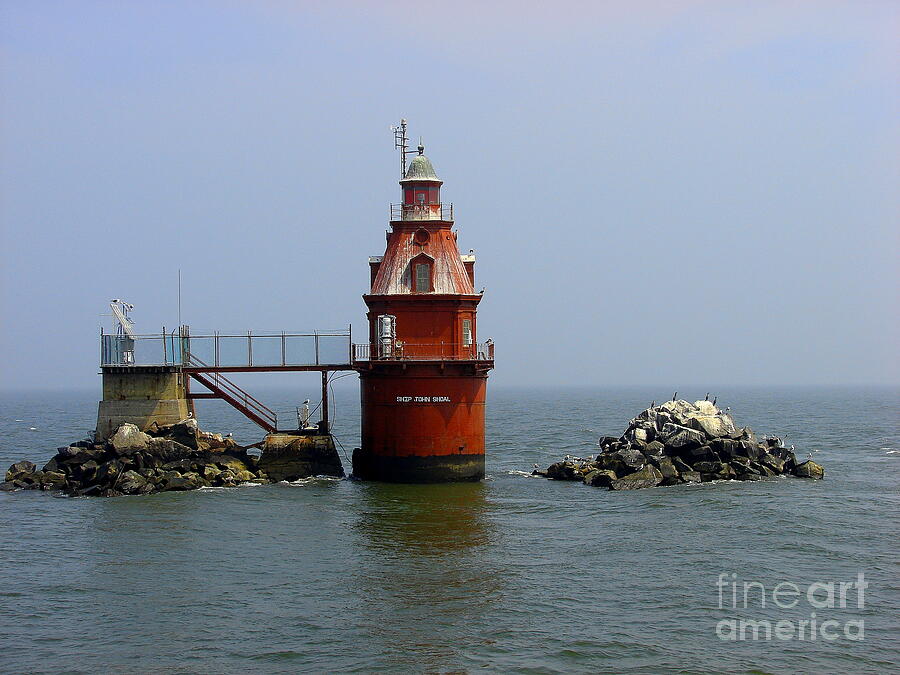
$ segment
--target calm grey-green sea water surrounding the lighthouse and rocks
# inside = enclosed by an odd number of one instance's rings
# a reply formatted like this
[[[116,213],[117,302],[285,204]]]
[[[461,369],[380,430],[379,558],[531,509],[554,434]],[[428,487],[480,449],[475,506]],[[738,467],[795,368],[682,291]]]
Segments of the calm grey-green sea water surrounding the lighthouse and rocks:
[[[897,672],[900,392],[718,392],[739,424],[787,434],[801,457],[812,451],[822,482],[616,493],[525,475],[592,454],[599,435],[620,433],[667,393],[494,388],[489,477],[474,485],[0,494],[0,671]],[[281,410],[305,397],[260,394]],[[96,396],[5,395],[3,468],[42,464],[81,437]],[[349,455],[355,391],[338,389],[335,403]],[[206,429],[260,438],[224,403],[203,402],[198,417]],[[843,608],[805,595],[859,573],[862,603],[856,589]],[[739,585],[734,608],[732,580],[762,584],[766,606],[757,585],[744,608]],[[782,582],[804,593],[796,607],[774,605]],[[827,604],[827,593],[813,598]],[[796,631],[812,613],[836,622],[827,634],[837,639],[717,636],[717,626],[728,634],[723,620]],[[863,639],[851,640],[844,630],[858,637],[859,621]]]

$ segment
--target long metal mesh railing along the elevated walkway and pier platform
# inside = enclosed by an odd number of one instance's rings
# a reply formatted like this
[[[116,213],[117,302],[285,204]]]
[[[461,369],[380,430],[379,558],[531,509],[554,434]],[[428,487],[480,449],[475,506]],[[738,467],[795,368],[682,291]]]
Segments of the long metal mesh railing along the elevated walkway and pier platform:
[[[101,332],[101,366],[187,365],[191,357],[209,367],[293,367],[345,364],[350,330],[311,333],[213,333],[182,331],[123,338]],[[130,341],[130,342],[129,342]]]

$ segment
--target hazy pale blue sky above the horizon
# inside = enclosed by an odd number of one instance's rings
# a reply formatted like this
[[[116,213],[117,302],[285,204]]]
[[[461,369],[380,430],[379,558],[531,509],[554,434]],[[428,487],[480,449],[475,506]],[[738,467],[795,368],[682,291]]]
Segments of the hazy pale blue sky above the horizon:
[[[900,4],[0,4],[0,387],[141,332],[362,335],[401,116],[502,384],[897,383]]]

